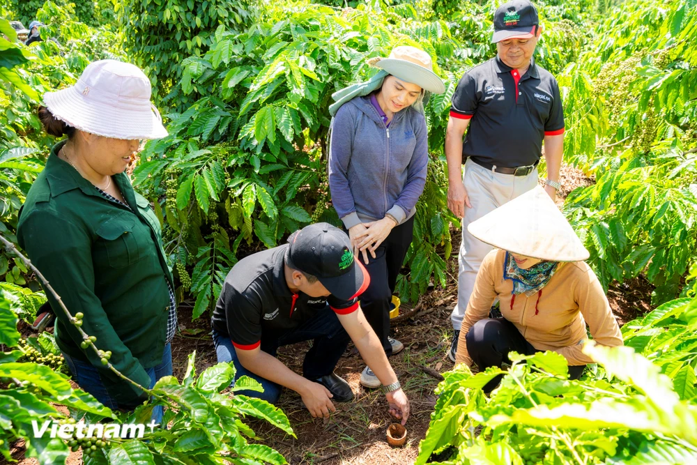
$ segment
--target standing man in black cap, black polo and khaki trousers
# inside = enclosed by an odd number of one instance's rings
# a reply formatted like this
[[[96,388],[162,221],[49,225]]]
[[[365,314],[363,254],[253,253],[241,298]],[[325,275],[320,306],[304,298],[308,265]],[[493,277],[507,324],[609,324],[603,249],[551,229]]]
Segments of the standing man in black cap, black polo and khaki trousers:
[[[537,185],[543,142],[545,190],[554,199],[561,187],[564,115],[556,79],[533,59],[541,33],[537,10],[527,0],[509,1],[496,10],[493,26],[497,56],[460,79],[445,135],[447,205],[463,219],[457,305],[451,316],[453,361],[477,271],[492,248],[469,234],[467,225]],[[515,227],[511,221],[502,227]]]

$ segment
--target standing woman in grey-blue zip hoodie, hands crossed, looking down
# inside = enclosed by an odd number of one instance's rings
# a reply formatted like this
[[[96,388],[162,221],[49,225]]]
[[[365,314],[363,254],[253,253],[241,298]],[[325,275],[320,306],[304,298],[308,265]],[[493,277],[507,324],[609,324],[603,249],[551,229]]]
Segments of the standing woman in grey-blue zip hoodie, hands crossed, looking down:
[[[390,303],[426,183],[422,100],[427,92],[445,92],[445,86],[433,72],[431,56],[415,47],[395,47],[388,58],[369,63],[381,71],[333,96],[329,187],[354,252],[370,275],[361,308],[390,356],[404,349],[390,337]],[[382,384],[368,367],[360,383]]]

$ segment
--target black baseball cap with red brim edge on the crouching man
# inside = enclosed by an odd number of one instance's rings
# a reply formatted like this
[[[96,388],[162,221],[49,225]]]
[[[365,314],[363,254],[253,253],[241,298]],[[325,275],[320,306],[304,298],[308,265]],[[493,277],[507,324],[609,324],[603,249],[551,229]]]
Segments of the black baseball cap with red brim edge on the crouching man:
[[[368,287],[370,277],[353,257],[351,240],[329,223],[310,224],[289,236],[286,264],[314,275],[332,296],[351,300]]]

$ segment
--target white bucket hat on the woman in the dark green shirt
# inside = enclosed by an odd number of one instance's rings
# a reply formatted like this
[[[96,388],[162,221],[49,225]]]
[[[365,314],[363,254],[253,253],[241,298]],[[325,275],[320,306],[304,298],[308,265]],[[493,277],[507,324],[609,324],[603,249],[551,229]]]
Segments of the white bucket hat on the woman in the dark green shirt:
[[[57,119],[90,134],[160,139],[167,130],[150,97],[150,80],[140,68],[100,60],[90,63],[74,86],[45,93],[44,105]]]

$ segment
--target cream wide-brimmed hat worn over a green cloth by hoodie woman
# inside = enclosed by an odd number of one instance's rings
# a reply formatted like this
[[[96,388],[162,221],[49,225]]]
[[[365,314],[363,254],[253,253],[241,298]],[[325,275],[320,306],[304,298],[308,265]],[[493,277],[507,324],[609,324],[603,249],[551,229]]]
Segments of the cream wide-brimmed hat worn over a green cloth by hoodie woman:
[[[387,58],[378,56],[369,59],[368,64],[381,68],[406,82],[416,84],[426,91],[445,92],[443,81],[433,72],[431,56],[416,47],[408,45],[395,47]]]

